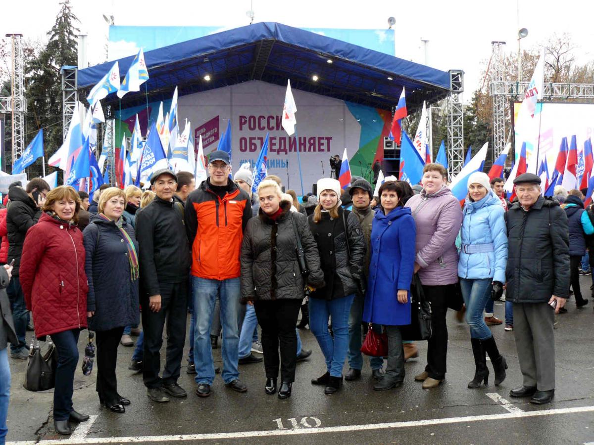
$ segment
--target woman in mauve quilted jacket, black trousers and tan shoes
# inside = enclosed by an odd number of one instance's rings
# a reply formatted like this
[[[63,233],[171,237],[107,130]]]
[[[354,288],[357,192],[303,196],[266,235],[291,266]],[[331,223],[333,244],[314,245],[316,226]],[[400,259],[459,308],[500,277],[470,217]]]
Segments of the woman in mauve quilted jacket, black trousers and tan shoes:
[[[415,272],[431,301],[432,335],[428,341],[427,365],[425,371],[415,376],[425,389],[437,386],[445,378],[447,295],[458,282],[456,237],[462,224],[462,208],[445,185],[446,174],[441,164],[427,164],[421,179],[423,191],[406,203],[416,225]]]

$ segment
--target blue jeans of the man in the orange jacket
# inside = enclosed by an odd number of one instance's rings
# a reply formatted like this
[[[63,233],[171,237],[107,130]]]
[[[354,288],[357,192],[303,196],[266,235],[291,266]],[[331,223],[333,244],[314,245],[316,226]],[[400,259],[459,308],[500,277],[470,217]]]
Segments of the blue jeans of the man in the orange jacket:
[[[220,319],[223,324],[223,373],[225,383],[239,379],[239,278],[222,281],[192,276],[194,292],[194,313],[196,325],[194,332],[194,364],[196,383],[213,384],[214,362],[210,346],[210,328],[213,323],[214,301],[219,295]]]

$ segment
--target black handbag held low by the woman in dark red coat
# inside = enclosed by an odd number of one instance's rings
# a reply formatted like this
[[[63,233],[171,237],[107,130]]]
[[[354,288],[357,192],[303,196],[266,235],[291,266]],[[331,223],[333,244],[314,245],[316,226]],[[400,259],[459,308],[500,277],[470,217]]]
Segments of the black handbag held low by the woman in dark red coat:
[[[51,339],[48,340],[49,348],[42,354],[39,341],[33,336],[27,371],[23,387],[29,391],[45,391],[52,389],[56,384],[56,367],[58,367],[58,349]]]

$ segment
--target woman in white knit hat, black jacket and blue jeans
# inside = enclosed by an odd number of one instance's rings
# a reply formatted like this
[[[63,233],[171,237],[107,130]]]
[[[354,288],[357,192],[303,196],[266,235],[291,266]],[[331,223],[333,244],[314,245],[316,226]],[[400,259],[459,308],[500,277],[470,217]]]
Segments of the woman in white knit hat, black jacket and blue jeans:
[[[326,358],[326,373],[312,384],[332,394],[342,386],[342,367],[349,347],[349,313],[361,280],[365,239],[359,219],[340,206],[340,183],[324,178],[317,183],[319,204],[309,216],[309,228],[320,252],[326,285],[309,295],[309,328]],[[328,332],[332,317],[333,337]]]

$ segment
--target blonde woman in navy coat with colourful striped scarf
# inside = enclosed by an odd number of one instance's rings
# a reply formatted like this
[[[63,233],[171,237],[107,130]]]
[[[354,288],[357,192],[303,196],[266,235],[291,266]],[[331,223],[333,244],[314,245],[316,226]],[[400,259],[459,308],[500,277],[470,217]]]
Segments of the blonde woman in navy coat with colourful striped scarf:
[[[99,199],[99,213],[83,231],[85,271],[89,279],[87,317],[97,333],[99,403],[125,412],[130,400],[118,393],[115,367],[124,327],[138,325],[138,243],[134,228],[122,218],[124,190],[109,187]]]

